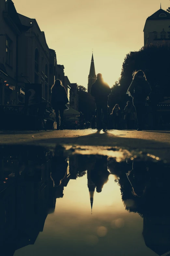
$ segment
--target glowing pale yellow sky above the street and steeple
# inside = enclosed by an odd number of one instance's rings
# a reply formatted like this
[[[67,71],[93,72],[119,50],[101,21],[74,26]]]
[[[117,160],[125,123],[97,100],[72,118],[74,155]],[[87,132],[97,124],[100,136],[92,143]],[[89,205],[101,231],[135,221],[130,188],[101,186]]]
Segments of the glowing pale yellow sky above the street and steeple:
[[[70,82],[87,87],[92,48],[95,70],[110,86],[120,77],[126,54],[143,46],[148,16],[160,0],[13,0],[17,12],[35,18],[56,51]],[[169,0],[162,0],[162,9]]]

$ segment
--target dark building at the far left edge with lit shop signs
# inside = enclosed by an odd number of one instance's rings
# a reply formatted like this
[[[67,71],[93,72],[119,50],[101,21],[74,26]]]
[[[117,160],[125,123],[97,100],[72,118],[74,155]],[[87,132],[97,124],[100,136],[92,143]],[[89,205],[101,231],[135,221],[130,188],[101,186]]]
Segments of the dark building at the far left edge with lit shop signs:
[[[28,31],[11,0],[0,1],[0,104],[18,104],[19,41]],[[21,64],[22,65],[22,64]],[[21,89],[22,94],[22,89]]]

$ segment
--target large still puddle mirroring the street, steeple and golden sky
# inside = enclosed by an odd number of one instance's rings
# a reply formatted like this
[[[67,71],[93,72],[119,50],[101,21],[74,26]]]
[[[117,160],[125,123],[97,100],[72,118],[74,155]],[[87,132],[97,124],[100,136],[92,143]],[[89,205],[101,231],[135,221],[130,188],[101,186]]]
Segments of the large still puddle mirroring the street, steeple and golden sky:
[[[33,146],[0,153],[0,255],[170,251],[167,163]]]

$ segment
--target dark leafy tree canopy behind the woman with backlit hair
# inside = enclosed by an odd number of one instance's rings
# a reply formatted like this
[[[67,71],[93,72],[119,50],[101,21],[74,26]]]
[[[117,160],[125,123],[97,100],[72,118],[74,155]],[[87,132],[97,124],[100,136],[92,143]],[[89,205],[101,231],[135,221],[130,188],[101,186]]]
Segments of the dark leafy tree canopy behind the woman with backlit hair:
[[[119,104],[124,108],[127,100],[132,100],[126,92],[132,82],[133,72],[143,70],[151,86],[152,93],[156,93],[158,101],[163,96],[170,96],[169,70],[170,70],[170,47],[162,45],[149,45],[139,51],[130,52],[126,55],[121,71],[121,77],[113,85],[109,95],[109,106]]]

